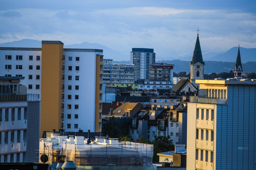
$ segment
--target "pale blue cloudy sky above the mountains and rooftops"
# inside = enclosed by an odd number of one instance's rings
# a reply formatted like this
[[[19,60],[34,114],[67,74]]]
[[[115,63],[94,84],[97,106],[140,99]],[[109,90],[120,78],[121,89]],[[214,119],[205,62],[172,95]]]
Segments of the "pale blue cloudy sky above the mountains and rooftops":
[[[256,48],[256,0],[0,0],[0,43],[98,43],[119,60],[153,48],[168,60],[192,55],[197,29],[203,54]]]

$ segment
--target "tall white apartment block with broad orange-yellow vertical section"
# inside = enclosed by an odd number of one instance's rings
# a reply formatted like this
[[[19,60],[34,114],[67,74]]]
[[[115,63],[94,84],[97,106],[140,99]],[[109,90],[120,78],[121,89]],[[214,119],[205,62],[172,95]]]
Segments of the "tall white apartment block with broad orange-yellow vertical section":
[[[53,129],[100,132],[103,51],[63,45],[42,41],[42,48],[0,47],[0,75],[24,76],[21,84],[28,93],[40,94],[40,136]]]

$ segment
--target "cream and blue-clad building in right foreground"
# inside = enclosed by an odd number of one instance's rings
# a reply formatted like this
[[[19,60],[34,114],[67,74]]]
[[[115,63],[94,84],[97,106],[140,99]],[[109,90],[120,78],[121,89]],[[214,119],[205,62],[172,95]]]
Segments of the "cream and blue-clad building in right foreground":
[[[256,82],[196,80],[187,119],[187,170],[254,170]]]

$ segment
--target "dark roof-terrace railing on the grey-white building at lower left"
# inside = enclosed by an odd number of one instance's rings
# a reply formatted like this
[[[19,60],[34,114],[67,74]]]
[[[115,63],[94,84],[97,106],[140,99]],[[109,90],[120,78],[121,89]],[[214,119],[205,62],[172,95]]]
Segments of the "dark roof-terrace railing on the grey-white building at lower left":
[[[0,94],[0,102],[29,102],[39,101],[39,94],[23,93],[23,94]]]

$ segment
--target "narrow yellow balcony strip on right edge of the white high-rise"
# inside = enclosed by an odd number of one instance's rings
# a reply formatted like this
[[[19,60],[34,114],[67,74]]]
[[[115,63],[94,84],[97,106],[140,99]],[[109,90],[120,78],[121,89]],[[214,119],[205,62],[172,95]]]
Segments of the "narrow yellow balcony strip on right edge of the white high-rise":
[[[102,66],[103,66],[103,56],[96,55],[95,132],[101,132],[101,129],[99,128],[99,123],[101,123],[99,114],[102,113],[102,109],[100,109],[100,104],[102,105],[102,75],[103,75]]]

